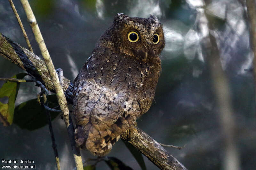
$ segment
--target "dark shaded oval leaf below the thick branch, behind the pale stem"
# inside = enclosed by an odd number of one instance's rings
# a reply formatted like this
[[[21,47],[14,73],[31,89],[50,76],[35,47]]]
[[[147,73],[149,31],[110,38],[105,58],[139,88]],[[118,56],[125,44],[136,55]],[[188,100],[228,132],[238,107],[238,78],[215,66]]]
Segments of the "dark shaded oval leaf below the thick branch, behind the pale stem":
[[[56,94],[48,95],[47,101],[49,107],[58,106]],[[51,119],[57,117],[60,113],[50,112]],[[15,107],[13,123],[21,129],[35,130],[48,124],[45,109],[37,102],[37,99],[25,101]]]

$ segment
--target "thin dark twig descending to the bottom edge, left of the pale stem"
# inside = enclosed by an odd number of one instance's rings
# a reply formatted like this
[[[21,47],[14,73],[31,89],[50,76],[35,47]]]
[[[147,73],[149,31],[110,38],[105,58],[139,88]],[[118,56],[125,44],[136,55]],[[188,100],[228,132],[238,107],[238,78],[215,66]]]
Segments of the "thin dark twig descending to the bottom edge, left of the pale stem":
[[[41,88],[41,92],[43,92],[43,89]],[[41,102],[41,106],[48,106],[48,102],[47,102],[47,98],[46,95],[43,94],[43,102]],[[55,137],[54,137],[54,133],[53,133],[53,129],[52,129],[52,119],[51,119],[51,114],[50,112],[45,109],[45,114],[47,117],[47,121],[48,121],[48,126],[49,126],[49,130],[50,130],[50,134],[51,134],[51,139],[52,139],[52,149],[54,152],[54,156],[56,159],[56,166],[57,166],[57,170],[60,170],[60,159],[59,159],[59,155],[58,155],[58,150],[57,150],[57,144],[55,143]]]

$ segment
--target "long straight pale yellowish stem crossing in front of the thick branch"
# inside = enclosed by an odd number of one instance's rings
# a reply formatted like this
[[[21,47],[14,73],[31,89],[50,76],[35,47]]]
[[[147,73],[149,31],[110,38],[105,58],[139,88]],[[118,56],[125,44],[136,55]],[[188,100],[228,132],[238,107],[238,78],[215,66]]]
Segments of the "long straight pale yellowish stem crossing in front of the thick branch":
[[[51,59],[50,54],[46,48],[43,36],[40,32],[39,26],[36,22],[36,18],[34,16],[34,13],[31,9],[29,3],[28,3],[28,0],[20,0],[20,2],[23,6],[23,9],[24,9],[26,15],[27,15],[28,22],[32,28],[32,31],[35,35],[36,42],[41,50],[41,54],[44,57],[44,62],[45,62],[46,67],[50,73],[52,83],[53,83],[54,89],[56,91],[57,99],[58,99],[58,102],[60,105],[60,109],[63,112],[63,118],[64,118],[65,124],[67,126],[67,129],[68,129],[68,135],[71,140],[71,146],[72,146],[72,151],[73,151],[73,156],[75,159],[76,167],[78,170],[83,170],[83,163],[82,163],[82,158],[80,156],[80,151],[78,150],[78,148],[76,148],[75,142],[73,142],[73,140],[74,140],[73,122],[71,119],[69,119],[69,109],[68,109],[67,100],[66,100],[65,94],[63,92],[63,89],[60,85],[60,81],[59,81],[57,72],[54,68],[52,59]]]

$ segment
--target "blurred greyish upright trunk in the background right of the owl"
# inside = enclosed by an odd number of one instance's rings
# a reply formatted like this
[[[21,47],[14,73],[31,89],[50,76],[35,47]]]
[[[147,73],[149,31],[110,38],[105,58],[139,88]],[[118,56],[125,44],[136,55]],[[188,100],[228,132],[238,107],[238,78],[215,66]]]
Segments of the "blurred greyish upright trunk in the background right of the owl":
[[[210,1],[203,1],[207,5]],[[200,17],[196,22],[196,32],[200,38],[200,46],[205,64],[210,69],[210,76],[214,89],[216,105],[219,108],[219,122],[222,137],[224,139],[224,161],[222,168],[225,170],[239,170],[239,152],[236,146],[236,119],[232,108],[231,92],[228,77],[221,65],[221,56],[215,35],[214,20],[208,13],[207,8],[198,10]]]

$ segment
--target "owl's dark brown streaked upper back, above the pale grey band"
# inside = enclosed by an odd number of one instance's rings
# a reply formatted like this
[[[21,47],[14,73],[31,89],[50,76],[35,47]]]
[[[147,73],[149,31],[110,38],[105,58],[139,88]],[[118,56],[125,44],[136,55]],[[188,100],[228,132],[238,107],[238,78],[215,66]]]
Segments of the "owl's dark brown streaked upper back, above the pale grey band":
[[[94,52],[84,66],[87,79],[110,89],[112,95],[122,92],[116,101],[136,101],[140,108],[138,116],[147,112],[161,72],[159,57],[155,57],[154,62],[142,62],[108,48],[100,49],[100,52]]]

